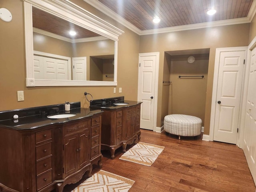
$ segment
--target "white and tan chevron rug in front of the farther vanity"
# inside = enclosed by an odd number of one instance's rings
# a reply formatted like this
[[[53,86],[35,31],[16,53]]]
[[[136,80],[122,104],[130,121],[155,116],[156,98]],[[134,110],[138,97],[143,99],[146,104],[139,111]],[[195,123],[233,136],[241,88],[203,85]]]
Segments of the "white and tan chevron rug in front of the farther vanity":
[[[163,150],[163,146],[138,142],[126,151],[119,159],[151,166]]]

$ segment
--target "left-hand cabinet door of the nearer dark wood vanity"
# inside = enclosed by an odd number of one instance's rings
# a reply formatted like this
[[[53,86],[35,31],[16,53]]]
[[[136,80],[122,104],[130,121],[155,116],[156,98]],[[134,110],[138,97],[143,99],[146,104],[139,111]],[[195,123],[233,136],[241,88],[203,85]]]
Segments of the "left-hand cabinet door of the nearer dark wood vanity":
[[[77,170],[78,135],[64,138],[64,177]]]

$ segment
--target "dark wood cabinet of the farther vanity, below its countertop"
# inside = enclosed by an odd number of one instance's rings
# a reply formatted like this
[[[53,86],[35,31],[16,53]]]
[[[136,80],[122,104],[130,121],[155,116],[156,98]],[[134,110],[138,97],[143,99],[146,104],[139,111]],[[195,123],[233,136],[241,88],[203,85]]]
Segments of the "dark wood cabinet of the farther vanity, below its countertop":
[[[126,152],[127,144],[136,144],[140,139],[140,104],[119,109],[102,109],[102,150],[110,150],[115,158],[117,148]]]

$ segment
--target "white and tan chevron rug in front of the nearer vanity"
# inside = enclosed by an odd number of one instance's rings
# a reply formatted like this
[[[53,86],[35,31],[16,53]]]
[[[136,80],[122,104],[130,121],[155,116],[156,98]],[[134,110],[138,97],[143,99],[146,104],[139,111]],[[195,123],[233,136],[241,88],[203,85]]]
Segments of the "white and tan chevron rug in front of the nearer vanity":
[[[100,170],[72,192],[128,192],[135,181]]]

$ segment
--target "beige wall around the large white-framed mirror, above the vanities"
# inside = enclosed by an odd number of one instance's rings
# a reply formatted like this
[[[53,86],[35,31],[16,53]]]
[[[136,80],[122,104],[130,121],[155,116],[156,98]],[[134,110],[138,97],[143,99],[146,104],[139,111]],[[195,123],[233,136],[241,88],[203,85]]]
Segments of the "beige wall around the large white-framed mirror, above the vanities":
[[[75,2],[75,1],[74,1]],[[78,0],[84,9],[93,14],[104,16],[98,10]],[[84,92],[93,95],[94,99],[125,96],[127,100],[137,100],[138,87],[138,53],[139,35],[117,24],[110,18],[103,17],[124,31],[118,41],[118,85],[122,93],[113,93],[113,86],[69,86],[69,87],[26,87],[26,62],[24,44],[24,21],[22,0],[1,0],[1,7],[12,13],[12,21],[0,20],[0,111],[51,104],[65,101],[81,102],[88,107]],[[17,91],[24,90],[24,101],[17,101]],[[131,94],[133,93],[133,94]]]

